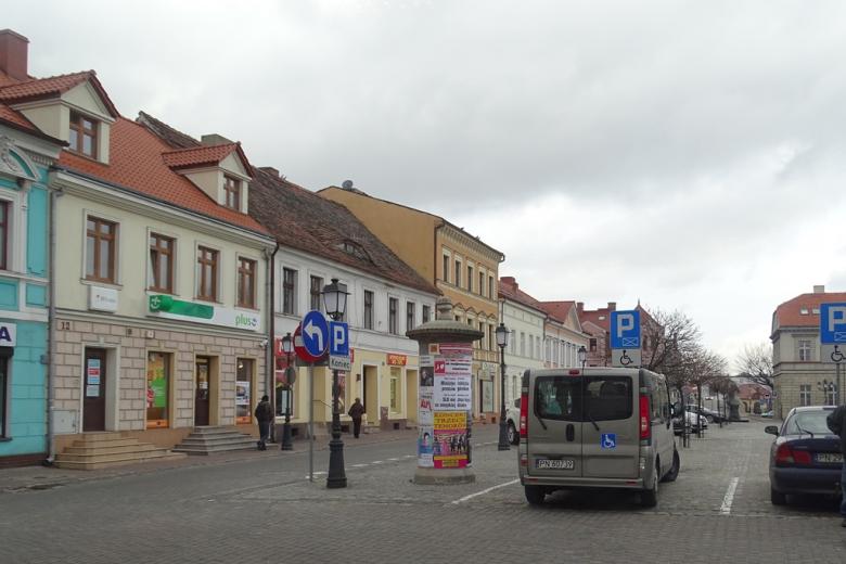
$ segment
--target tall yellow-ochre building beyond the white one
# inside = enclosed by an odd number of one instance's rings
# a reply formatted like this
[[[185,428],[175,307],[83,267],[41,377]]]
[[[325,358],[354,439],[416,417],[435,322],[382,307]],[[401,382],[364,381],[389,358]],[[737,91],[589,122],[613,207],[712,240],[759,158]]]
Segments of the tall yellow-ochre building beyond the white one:
[[[482,331],[474,344],[473,414],[499,412],[499,264],[505,255],[443,217],[379,200],[354,188],[330,187],[321,196],[345,205],[399,258],[452,300],[456,320]],[[426,320],[424,320],[426,321]]]

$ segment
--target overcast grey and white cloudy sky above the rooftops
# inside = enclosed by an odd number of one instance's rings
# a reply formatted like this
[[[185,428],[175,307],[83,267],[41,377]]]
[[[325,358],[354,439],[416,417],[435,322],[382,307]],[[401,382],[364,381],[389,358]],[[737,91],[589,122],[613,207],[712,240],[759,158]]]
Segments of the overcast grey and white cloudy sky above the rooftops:
[[[681,309],[733,360],[846,291],[846,2],[46,2],[29,68],[443,215],[539,299]]]

